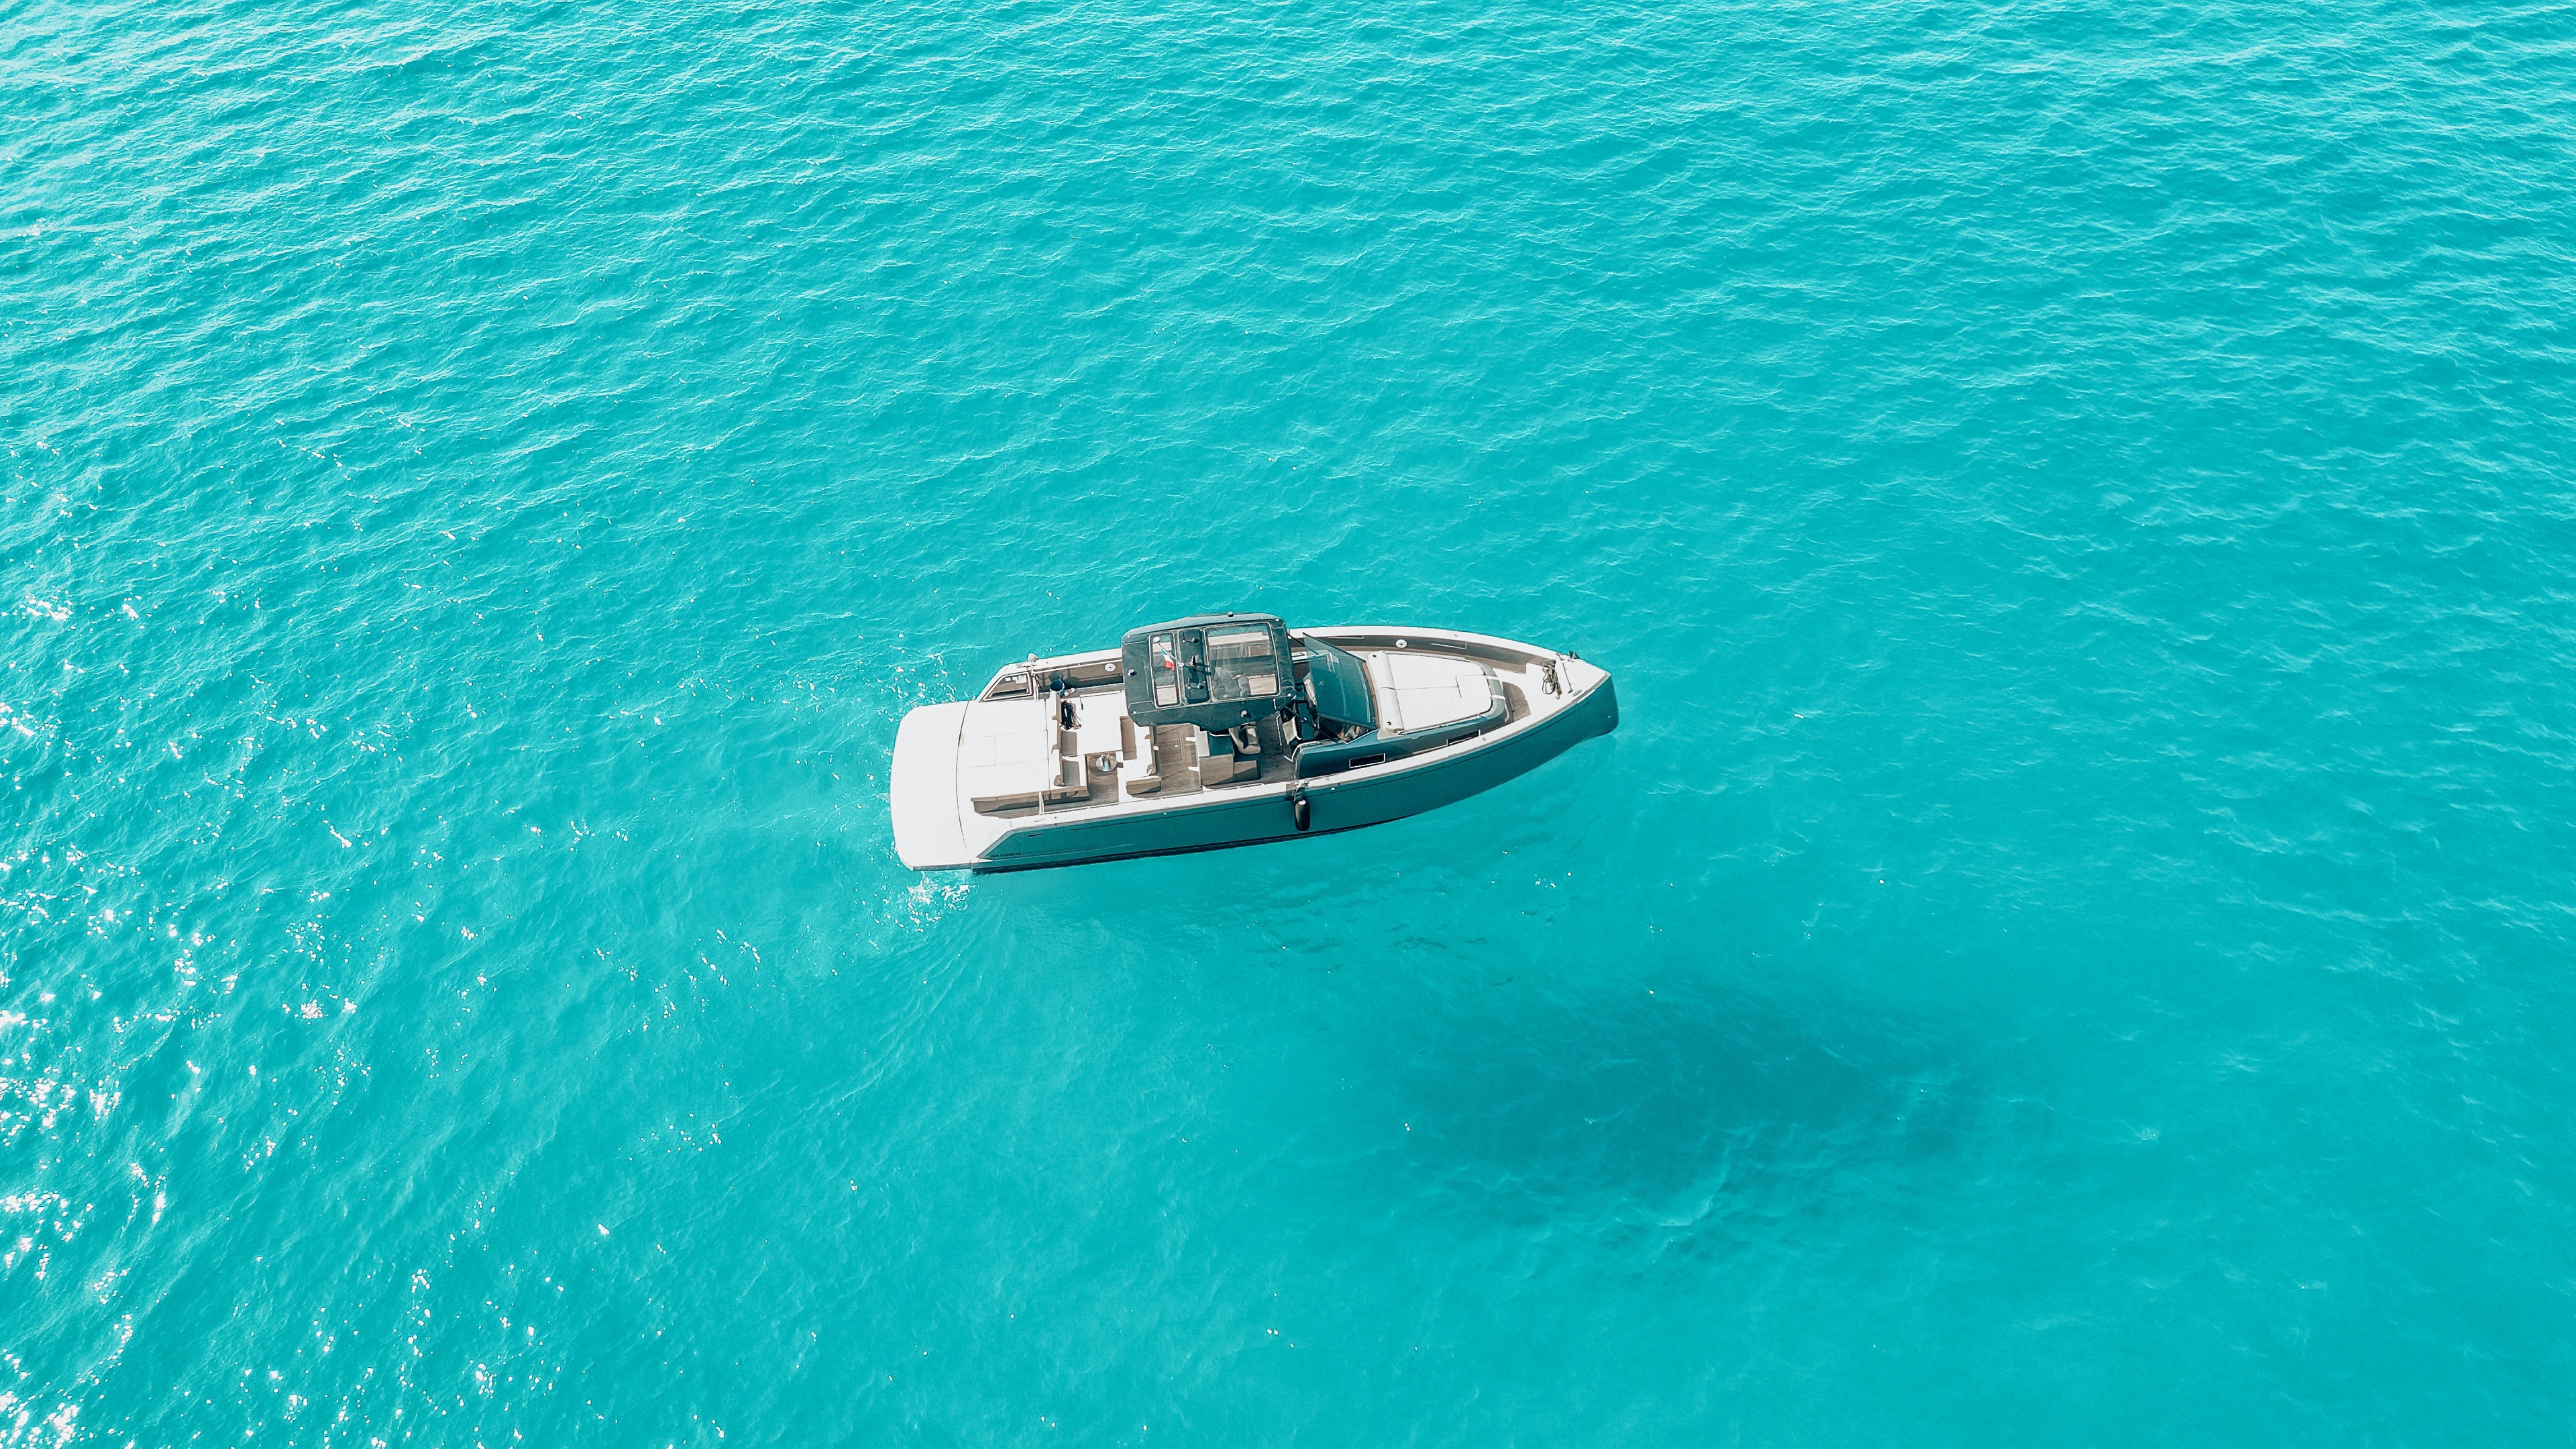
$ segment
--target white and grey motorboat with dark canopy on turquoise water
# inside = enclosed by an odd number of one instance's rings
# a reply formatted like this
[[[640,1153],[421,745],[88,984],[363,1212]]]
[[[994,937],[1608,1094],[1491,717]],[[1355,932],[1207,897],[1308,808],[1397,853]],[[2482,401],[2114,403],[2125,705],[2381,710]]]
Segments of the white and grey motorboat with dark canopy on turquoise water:
[[[1494,789],[1618,727],[1571,650],[1200,614],[1002,668],[904,717],[894,853],[1025,871],[1358,830]]]

